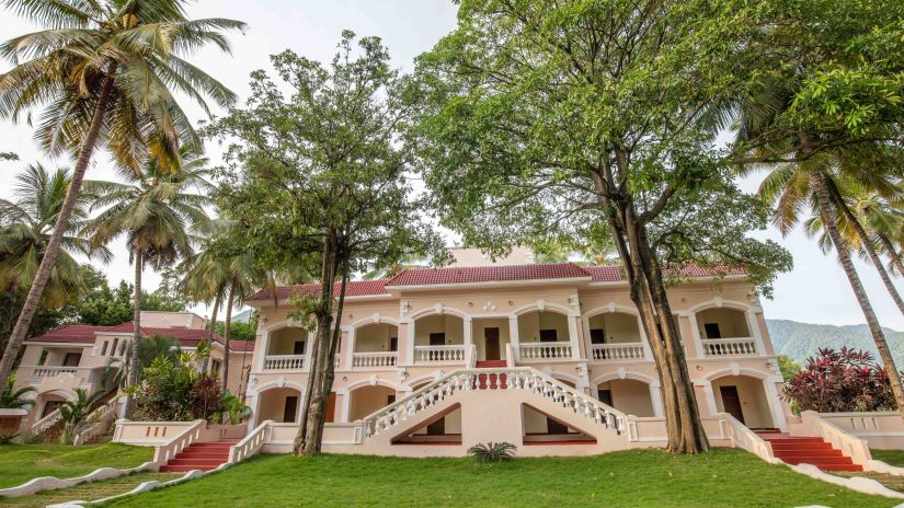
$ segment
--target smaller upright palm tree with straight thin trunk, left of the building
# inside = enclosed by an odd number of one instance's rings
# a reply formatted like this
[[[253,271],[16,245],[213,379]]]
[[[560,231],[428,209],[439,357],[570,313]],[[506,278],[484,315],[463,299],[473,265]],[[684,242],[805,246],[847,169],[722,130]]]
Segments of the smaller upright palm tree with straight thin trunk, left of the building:
[[[150,159],[138,174],[123,172],[126,183],[85,182],[96,196],[93,208],[101,208],[85,229],[92,242],[103,245],[119,235],[126,236],[130,259],[135,264],[135,314],[133,343],[141,340],[141,272],[151,262],[158,269],[194,254],[192,231],[206,228],[209,218],[204,207],[210,204],[204,194],[210,184],[206,177],[207,159],[183,148],[178,170],[167,172],[159,159]],[[138,381],[139,347],[131,348],[128,384]],[[127,402],[126,414],[131,409]]]

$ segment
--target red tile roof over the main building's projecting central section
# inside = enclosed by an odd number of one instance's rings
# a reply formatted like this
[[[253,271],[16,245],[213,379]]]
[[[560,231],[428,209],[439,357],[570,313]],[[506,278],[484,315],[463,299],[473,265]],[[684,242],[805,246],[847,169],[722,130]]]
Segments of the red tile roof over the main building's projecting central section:
[[[590,278],[590,274],[574,263],[415,268],[407,269],[397,275],[389,282],[387,282],[387,286],[433,286],[442,284],[502,282],[510,280],[572,278]]]

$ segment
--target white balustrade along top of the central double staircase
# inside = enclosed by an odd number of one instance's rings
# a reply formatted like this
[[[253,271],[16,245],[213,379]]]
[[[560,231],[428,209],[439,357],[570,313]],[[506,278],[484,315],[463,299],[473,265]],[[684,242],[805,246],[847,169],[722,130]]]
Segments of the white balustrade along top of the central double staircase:
[[[461,369],[450,372],[410,395],[377,411],[363,420],[366,437],[378,436],[417,412],[424,411],[459,391],[528,390],[538,393],[597,425],[625,431],[626,415],[590,395],[529,367]]]

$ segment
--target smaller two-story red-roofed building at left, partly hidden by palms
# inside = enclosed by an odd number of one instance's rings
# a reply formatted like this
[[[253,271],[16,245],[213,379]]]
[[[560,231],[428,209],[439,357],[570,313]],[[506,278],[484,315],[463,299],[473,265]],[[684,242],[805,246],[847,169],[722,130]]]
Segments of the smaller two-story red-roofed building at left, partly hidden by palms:
[[[192,312],[141,312],[141,336],[160,335],[179,340],[182,350],[194,350],[208,338],[204,318]],[[72,400],[76,389],[88,393],[105,390],[104,371],[116,366],[127,351],[126,345],[134,337],[133,322],[116,326],[67,324],[46,334],[25,340],[25,350],[15,374],[15,388],[32,386],[30,394],[34,406],[23,422],[23,429],[52,415],[57,406]],[[218,372],[224,359],[224,339],[214,334],[208,369]],[[253,343],[230,340],[230,368],[228,386],[233,393],[242,393],[251,366]],[[113,394],[111,394],[113,396]],[[119,408],[124,397],[121,393]]]

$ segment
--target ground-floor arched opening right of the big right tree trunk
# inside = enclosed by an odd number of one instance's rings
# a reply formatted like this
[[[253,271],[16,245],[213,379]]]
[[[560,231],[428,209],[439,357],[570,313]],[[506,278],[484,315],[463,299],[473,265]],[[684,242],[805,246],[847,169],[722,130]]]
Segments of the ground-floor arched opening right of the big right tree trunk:
[[[752,376],[723,376],[712,381],[716,407],[752,429],[776,427],[764,381]]]

